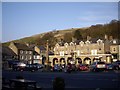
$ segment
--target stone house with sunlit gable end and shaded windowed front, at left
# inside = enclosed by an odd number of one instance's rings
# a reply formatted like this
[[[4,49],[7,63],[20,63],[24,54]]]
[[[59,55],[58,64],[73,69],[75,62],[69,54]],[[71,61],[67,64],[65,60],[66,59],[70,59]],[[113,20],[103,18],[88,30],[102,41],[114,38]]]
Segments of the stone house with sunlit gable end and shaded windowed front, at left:
[[[25,63],[33,63],[33,49],[26,44],[11,42],[9,48],[17,55],[17,59]]]

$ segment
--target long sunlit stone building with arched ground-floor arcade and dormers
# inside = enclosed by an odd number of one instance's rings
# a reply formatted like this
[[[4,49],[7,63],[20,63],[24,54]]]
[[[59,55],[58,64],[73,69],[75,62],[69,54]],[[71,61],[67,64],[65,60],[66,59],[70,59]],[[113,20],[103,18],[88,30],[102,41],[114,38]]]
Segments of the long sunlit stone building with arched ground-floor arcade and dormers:
[[[57,43],[54,47],[54,55],[49,56],[49,61],[52,66],[69,62],[89,65],[95,60],[111,63],[109,51],[110,43],[107,39],[92,38],[86,41]]]

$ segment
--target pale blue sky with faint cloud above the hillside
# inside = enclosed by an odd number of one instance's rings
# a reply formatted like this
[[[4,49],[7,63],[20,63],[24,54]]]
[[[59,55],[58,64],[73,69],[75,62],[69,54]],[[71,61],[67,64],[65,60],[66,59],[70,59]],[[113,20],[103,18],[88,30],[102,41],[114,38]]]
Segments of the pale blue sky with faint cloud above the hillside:
[[[118,19],[117,2],[3,2],[2,42],[113,19]]]

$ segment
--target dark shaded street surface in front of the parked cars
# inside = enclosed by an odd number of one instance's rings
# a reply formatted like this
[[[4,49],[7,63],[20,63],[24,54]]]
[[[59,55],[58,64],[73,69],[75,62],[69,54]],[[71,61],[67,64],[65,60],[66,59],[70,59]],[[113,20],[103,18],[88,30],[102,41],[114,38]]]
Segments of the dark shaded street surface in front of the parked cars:
[[[7,79],[14,79],[16,76],[23,76],[25,79],[37,81],[37,85],[43,90],[52,88],[52,81],[55,77],[62,77],[65,80],[65,90],[119,90],[119,72],[28,72],[28,71],[3,71],[2,76]],[[52,90],[52,89],[51,89]]]

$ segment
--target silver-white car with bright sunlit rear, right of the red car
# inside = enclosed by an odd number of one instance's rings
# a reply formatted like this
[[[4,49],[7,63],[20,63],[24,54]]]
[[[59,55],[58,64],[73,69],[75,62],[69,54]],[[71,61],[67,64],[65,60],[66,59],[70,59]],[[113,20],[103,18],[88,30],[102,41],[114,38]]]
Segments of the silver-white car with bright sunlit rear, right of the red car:
[[[105,71],[106,70],[106,63],[99,61],[99,62],[93,62],[89,66],[90,71]]]

